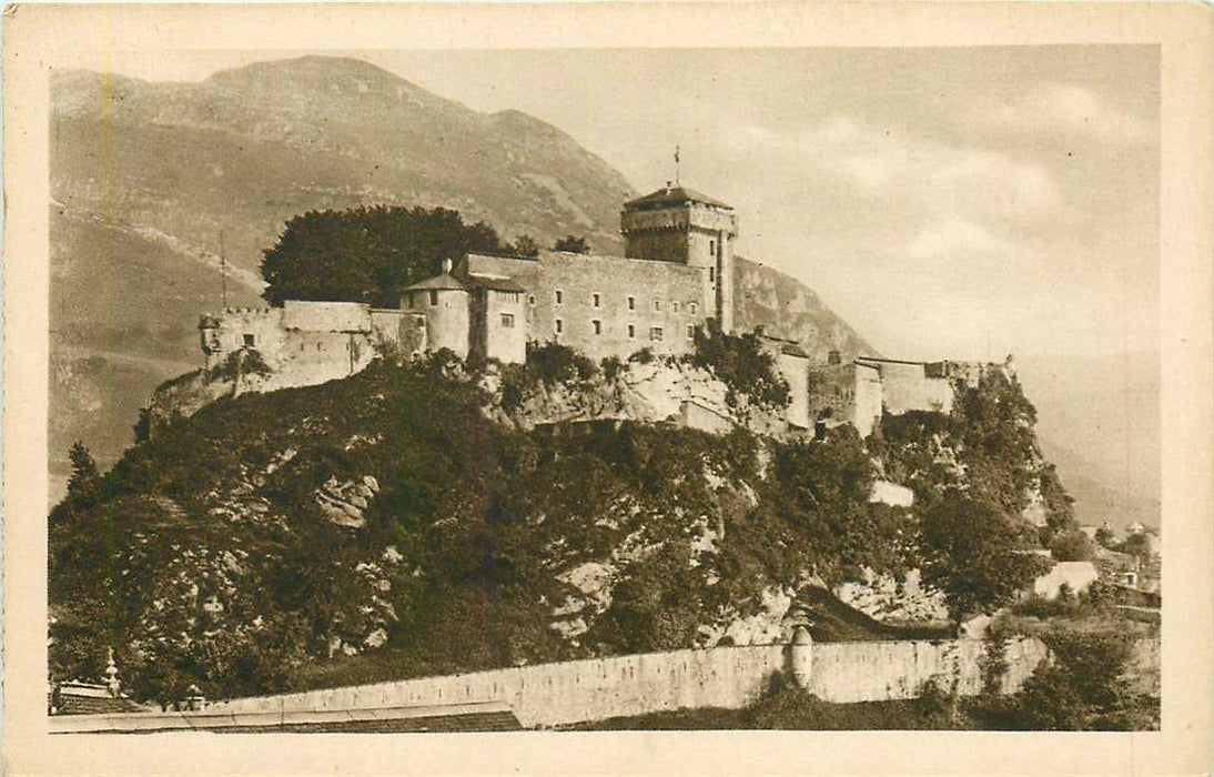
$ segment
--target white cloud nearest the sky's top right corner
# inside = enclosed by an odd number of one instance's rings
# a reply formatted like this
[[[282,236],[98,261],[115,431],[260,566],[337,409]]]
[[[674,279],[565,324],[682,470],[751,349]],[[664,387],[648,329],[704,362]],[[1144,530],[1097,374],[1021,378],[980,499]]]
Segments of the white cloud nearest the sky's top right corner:
[[[1020,132],[1068,132],[1117,144],[1148,143],[1157,135],[1148,121],[1074,84],[1043,84],[1032,93],[988,102],[978,112],[986,126]]]

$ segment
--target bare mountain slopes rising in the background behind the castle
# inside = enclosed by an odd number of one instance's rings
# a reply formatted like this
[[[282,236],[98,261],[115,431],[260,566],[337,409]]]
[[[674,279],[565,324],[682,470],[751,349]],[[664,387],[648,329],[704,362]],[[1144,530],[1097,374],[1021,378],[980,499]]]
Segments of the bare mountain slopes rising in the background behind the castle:
[[[573,233],[618,253],[619,205],[636,195],[549,124],[478,113],[358,59],[267,62],[183,84],[61,72],[51,130],[57,483],[74,439],[113,461],[152,388],[198,364],[193,325],[221,304],[221,248],[229,302],[251,305],[262,249],[307,210],[442,205],[506,239]],[[738,272],[741,322],[815,350],[864,350],[795,280],[745,262]]]

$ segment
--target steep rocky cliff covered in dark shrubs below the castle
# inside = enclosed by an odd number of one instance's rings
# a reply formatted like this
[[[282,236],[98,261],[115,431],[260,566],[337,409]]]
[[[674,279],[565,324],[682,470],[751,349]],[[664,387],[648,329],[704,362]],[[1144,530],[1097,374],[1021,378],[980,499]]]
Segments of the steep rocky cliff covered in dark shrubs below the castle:
[[[1004,548],[1012,561],[1037,544],[1034,494],[1066,517],[1005,379],[862,443],[773,433],[761,403],[687,364],[524,369],[378,361],[165,425],[52,511],[52,673],[96,674],[114,646],[141,698],[192,684],[222,698],[768,643],[796,625],[938,635],[830,589],[921,567],[948,595],[972,571],[931,532],[957,510],[980,545],[1026,543]],[[696,429],[688,398],[742,424]],[[879,478],[915,505],[873,500]],[[951,616],[983,606],[948,596]]]

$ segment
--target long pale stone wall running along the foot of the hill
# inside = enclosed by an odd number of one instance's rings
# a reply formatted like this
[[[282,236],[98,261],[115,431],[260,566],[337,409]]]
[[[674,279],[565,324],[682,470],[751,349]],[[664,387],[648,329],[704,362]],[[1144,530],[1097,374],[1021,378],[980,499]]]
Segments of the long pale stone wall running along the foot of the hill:
[[[959,694],[983,688],[988,646],[980,640],[828,642],[799,631],[793,643],[728,646],[493,669],[460,675],[217,702],[208,714],[505,703],[524,726],[561,726],[623,715],[721,707],[739,709],[777,673],[828,702],[919,696],[929,682]],[[1034,639],[1008,642],[1000,691],[1020,688],[1045,657]]]

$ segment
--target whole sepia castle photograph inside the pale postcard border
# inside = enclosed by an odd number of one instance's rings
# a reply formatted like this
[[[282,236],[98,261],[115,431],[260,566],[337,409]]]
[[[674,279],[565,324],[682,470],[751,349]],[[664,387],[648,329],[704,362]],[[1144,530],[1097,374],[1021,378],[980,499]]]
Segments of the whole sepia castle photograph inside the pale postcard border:
[[[52,738],[1159,732],[1159,45],[46,70]]]

